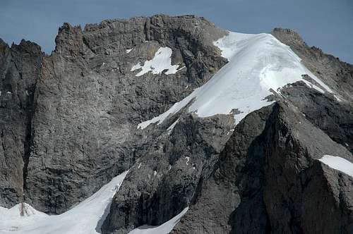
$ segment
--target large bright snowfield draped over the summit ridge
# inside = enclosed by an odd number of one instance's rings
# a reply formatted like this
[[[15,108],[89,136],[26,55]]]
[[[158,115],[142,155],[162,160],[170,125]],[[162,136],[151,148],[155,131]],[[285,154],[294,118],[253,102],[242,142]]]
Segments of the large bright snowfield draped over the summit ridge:
[[[140,123],[138,128],[146,128],[150,123],[162,123],[169,114],[177,113],[193,99],[189,112],[207,117],[237,109],[241,111],[234,114],[237,124],[251,111],[272,103],[265,99],[273,94],[270,90],[280,94],[280,88],[287,84],[301,80],[320,92],[332,92],[301,63],[301,59],[287,45],[273,35],[229,32],[214,44],[229,63],[205,85],[160,116]],[[320,87],[304,80],[301,77],[304,74],[309,75]]]

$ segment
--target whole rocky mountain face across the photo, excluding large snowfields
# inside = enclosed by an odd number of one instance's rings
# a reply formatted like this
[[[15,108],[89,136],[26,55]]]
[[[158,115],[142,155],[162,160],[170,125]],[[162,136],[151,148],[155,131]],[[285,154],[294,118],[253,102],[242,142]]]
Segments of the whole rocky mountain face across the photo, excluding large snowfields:
[[[353,162],[353,66],[292,30],[272,34],[333,92],[300,81],[237,125],[239,110],[201,118],[184,106],[147,128],[225,66],[214,42],[226,31],[158,15],[65,23],[50,56],[0,41],[0,207],[61,214],[129,170],[103,233],[185,207],[172,233],[353,233],[353,178],[318,160]]]

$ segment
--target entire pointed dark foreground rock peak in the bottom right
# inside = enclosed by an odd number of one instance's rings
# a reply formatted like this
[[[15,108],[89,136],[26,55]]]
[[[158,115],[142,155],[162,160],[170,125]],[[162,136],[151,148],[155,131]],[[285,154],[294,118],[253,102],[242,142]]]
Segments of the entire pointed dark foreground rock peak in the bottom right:
[[[323,154],[353,159],[292,104],[251,113],[173,233],[350,233],[352,178]]]

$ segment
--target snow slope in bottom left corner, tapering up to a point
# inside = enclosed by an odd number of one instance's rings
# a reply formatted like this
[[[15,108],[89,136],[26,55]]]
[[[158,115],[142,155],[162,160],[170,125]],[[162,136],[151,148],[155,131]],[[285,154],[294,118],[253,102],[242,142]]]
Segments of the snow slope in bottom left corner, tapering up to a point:
[[[27,234],[93,234],[99,233],[106,209],[119,190],[128,172],[121,173],[94,195],[64,214],[49,216],[24,204],[25,215],[20,216],[21,204],[11,209],[0,207],[0,233]]]

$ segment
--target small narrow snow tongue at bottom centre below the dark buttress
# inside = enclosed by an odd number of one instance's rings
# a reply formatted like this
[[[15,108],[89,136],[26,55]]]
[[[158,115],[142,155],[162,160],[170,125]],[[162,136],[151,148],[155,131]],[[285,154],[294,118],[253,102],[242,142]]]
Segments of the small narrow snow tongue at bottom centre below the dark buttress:
[[[131,230],[130,233],[128,234],[167,234],[170,233],[174,226],[177,225],[177,223],[180,221],[181,217],[186,214],[186,211],[188,211],[189,207],[186,207],[183,211],[181,211],[177,216],[174,218],[170,219],[169,221],[163,223],[160,226],[148,226],[148,225],[143,225],[138,228],[135,228]]]

